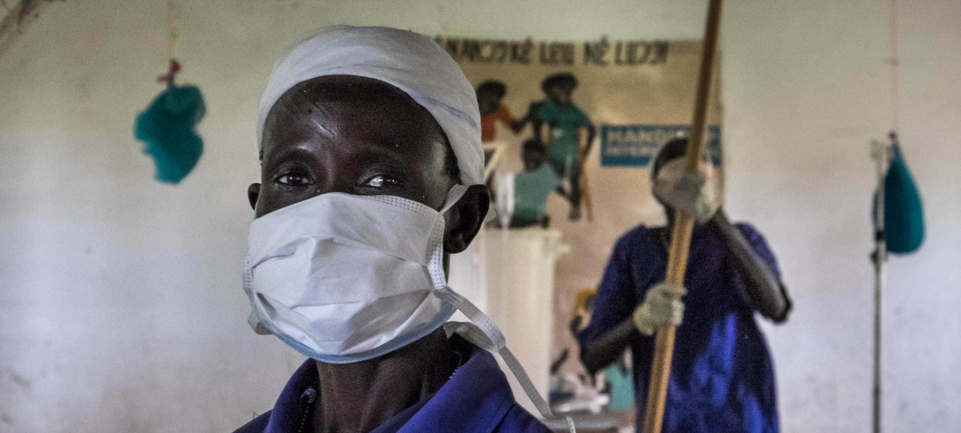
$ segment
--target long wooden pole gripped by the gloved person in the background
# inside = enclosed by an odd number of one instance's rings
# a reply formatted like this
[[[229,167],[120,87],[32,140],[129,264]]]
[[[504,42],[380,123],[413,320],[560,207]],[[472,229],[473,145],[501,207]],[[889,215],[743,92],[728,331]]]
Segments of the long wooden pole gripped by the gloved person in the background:
[[[714,71],[718,28],[721,24],[721,3],[722,0],[709,0],[707,7],[701,72],[698,76],[698,92],[694,101],[694,119],[691,122],[691,137],[687,144],[687,153],[684,155],[689,173],[696,172],[701,161],[704,123],[707,118],[707,104],[710,100],[711,74]],[[691,215],[679,210],[676,212],[674,229],[671,233],[671,251],[668,255],[668,284],[683,285],[684,283],[687,253],[691,245],[691,229],[693,226],[694,221],[691,219]],[[661,431],[668,378],[671,375],[671,358],[674,355],[675,331],[675,326],[662,326],[657,329],[657,335],[654,339],[651,381],[648,385],[648,404],[644,415],[644,433],[660,433]]]

